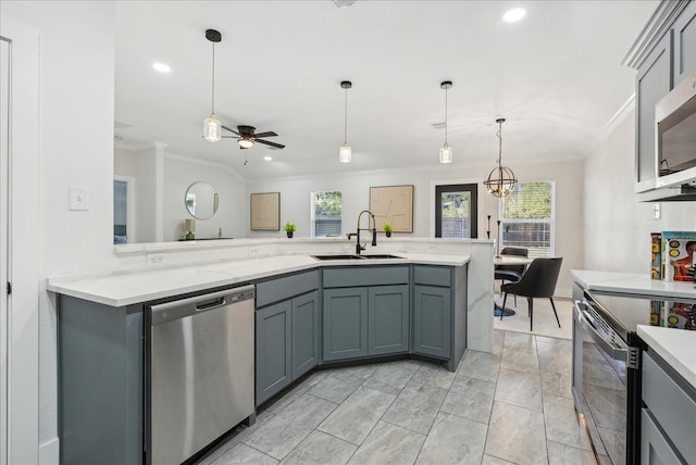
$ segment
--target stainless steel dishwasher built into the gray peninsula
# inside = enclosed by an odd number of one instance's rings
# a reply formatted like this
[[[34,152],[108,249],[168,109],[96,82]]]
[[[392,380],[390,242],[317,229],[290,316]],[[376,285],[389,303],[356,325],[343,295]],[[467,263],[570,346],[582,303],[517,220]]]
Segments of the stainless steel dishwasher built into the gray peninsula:
[[[179,464],[253,405],[254,287],[149,307],[149,463]]]

